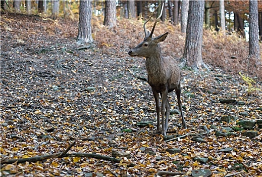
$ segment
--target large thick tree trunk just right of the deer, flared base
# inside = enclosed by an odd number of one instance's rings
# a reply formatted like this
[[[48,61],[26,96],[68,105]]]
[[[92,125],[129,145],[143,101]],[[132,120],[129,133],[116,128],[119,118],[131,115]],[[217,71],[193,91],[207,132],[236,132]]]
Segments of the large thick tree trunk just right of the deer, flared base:
[[[204,1],[190,1],[186,28],[186,45],[182,61],[194,69],[200,69],[202,60],[202,35]]]

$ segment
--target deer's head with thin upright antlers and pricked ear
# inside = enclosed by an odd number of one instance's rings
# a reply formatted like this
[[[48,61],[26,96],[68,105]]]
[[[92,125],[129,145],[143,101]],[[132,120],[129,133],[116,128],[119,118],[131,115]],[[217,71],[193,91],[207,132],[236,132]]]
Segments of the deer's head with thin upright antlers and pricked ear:
[[[141,43],[139,43],[138,46],[136,46],[134,49],[132,49],[131,51],[128,52],[128,54],[131,57],[148,58],[156,50],[156,48],[158,47],[158,43],[162,42],[166,39],[168,32],[166,32],[165,34],[162,34],[158,37],[152,37],[155,25],[158,22],[158,20],[160,19],[160,17],[162,16],[164,4],[162,5],[162,9],[161,9],[161,13],[160,13],[159,17],[156,18],[156,20],[153,24],[153,28],[152,28],[151,32],[149,33],[149,31],[147,31],[146,27],[145,27],[146,23],[152,18],[154,12],[159,8],[159,6],[155,8],[152,15],[144,22],[144,25],[143,25],[144,32],[145,32],[144,40]]]

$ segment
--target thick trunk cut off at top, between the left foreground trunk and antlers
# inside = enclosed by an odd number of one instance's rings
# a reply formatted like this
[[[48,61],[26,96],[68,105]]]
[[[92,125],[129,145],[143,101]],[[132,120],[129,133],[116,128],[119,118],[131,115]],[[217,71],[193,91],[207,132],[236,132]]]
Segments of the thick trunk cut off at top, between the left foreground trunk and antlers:
[[[110,27],[117,25],[117,6],[116,0],[106,1],[106,9],[104,10],[103,25]]]

